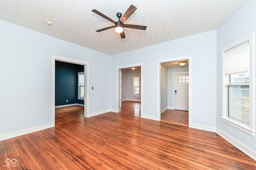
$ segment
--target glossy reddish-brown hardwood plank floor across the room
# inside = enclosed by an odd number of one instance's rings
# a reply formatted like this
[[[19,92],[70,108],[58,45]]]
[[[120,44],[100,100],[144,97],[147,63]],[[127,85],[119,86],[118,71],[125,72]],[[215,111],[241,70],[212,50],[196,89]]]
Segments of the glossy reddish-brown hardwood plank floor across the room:
[[[137,102],[90,118],[82,110],[56,108],[56,127],[0,141],[0,169],[256,169],[214,132],[140,118]]]

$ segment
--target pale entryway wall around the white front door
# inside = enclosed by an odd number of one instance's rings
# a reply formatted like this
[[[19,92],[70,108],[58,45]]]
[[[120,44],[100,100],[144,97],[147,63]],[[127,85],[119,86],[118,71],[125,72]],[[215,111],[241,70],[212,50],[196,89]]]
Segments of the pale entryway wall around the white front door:
[[[171,107],[174,109],[174,101],[173,101],[173,73],[178,72],[188,72],[188,67],[174,67],[174,68],[168,68],[168,107]]]

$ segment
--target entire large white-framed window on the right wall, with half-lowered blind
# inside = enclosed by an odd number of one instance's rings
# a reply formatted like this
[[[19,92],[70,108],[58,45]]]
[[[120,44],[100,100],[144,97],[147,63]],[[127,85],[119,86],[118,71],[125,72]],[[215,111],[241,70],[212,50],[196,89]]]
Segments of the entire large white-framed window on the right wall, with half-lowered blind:
[[[253,34],[222,49],[221,120],[254,136]]]

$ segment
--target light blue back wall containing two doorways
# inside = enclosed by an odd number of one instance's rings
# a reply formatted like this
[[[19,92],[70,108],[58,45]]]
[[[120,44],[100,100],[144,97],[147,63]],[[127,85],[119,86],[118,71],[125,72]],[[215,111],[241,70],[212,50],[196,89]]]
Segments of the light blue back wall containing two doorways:
[[[112,55],[112,109],[116,109],[116,67],[143,63],[143,114],[157,117],[157,61],[187,55],[192,55],[193,65],[191,121],[216,127],[216,30]]]

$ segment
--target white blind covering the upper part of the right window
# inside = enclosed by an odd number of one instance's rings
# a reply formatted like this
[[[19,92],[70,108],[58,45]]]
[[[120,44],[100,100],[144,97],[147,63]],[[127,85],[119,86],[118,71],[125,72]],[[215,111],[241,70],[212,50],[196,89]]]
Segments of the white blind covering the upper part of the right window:
[[[224,51],[225,75],[249,71],[249,41]]]

